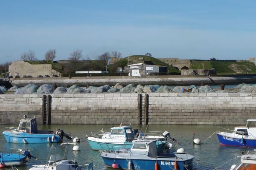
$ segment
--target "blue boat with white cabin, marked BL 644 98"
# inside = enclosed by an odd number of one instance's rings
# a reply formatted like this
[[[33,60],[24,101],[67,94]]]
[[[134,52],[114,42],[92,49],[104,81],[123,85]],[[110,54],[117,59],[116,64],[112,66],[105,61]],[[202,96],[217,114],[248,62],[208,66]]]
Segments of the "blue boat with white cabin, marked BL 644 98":
[[[101,156],[108,167],[123,170],[192,170],[194,156],[188,153],[157,152],[157,140],[135,140],[130,148],[102,151]]]

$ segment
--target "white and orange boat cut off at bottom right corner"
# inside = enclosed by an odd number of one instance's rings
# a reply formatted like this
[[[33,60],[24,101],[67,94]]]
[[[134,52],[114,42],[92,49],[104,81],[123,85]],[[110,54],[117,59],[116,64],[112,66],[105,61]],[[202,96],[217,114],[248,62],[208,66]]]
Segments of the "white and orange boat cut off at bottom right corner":
[[[256,150],[241,156],[241,163],[232,165],[230,170],[256,170]]]

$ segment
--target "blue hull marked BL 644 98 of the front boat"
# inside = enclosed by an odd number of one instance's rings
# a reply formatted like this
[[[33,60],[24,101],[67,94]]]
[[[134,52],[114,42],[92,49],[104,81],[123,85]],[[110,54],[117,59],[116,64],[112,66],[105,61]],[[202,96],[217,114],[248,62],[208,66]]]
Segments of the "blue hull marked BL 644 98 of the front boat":
[[[108,167],[112,167],[115,162],[119,169],[128,170],[129,161],[131,161],[131,169],[133,170],[152,170],[157,163],[158,170],[172,170],[174,168],[175,161],[168,159],[145,160],[145,159],[113,159],[108,157],[103,157],[104,163]],[[177,161],[177,170],[192,170],[192,159],[186,161]]]

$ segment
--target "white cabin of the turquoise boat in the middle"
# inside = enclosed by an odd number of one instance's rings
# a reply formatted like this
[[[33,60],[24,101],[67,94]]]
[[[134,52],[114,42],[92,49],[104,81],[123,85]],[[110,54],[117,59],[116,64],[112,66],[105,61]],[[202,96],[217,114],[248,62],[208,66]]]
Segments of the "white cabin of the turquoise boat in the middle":
[[[134,139],[134,131],[129,126],[112,127],[110,136],[115,138],[125,137],[126,139]]]

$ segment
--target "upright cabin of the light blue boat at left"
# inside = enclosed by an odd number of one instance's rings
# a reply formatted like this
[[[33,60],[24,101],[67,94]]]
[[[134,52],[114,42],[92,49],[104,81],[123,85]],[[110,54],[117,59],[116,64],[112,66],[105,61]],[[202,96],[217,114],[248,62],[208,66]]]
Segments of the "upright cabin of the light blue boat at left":
[[[36,119],[21,119],[17,130],[26,133],[38,133]]]

